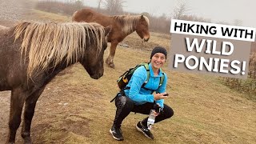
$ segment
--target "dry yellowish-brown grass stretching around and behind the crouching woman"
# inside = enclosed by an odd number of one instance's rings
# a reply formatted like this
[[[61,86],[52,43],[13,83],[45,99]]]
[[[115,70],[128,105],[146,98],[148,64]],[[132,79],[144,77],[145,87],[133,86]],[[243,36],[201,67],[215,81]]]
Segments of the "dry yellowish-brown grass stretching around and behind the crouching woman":
[[[108,130],[115,113],[110,99],[117,93],[116,79],[130,66],[148,60],[149,52],[118,47],[115,57],[116,69],[105,66],[105,74],[99,80],[91,79],[82,66],[76,65],[59,76],[50,85],[68,85],[63,90],[75,90],[68,94],[75,101],[79,113],[66,117],[76,122],[88,122],[87,137],[70,131],[61,138],[60,127],[64,122],[52,122],[52,130],[46,131],[42,139],[55,142],[56,134],[67,143],[116,143]],[[218,78],[204,75],[183,74],[165,68],[169,75],[167,91],[170,97],[166,104],[174,109],[174,117],[154,126],[155,140],[151,141],[138,133],[135,124],[145,118],[142,114],[130,114],[122,124],[124,143],[254,143],[256,142],[255,103],[242,98],[241,94],[223,86]],[[80,95],[77,97],[77,95]],[[86,101],[77,99],[86,95]],[[44,97],[42,95],[42,97]],[[62,98],[59,98],[62,99]],[[66,100],[67,101],[67,100]],[[71,105],[71,103],[70,103]],[[80,107],[86,105],[84,107]],[[79,106],[79,107],[77,107]],[[71,114],[72,115],[72,114]],[[57,118],[58,119],[58,118]],[[59,131],[61,130],[61,131]]]

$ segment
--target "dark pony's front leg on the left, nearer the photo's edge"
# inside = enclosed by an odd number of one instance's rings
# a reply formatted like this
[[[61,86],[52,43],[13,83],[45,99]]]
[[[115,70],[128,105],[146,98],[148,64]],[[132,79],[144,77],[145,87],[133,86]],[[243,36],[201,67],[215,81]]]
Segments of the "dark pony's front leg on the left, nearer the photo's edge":
[[[10,96],[10,118],[9,118],[9,134],[7,143],[14,143],[18,126],[21,123],[22,107],[24,105],[26,95],[20,88],[11,90]]]

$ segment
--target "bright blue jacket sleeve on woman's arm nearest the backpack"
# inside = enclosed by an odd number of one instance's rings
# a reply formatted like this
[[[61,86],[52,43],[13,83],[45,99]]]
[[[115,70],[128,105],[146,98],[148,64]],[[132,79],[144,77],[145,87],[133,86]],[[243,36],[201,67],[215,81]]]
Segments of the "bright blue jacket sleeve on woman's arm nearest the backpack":
[[[139,94],[142,84],[146,81],[147,74],[144,67],[140,67],[134,71],[131,78],[131,86],[129,92],[129,98],[134,102],[154,102],[153,94]]]

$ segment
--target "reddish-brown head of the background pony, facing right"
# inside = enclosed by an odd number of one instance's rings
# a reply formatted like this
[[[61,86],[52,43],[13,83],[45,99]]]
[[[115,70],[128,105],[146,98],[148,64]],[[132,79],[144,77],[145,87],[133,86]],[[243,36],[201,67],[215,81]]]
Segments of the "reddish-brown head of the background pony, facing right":
[[[136,32],[144,40],[144,42],[147,42],[150,39],[149,25],[149,18],[141,15],[136,26]]]

